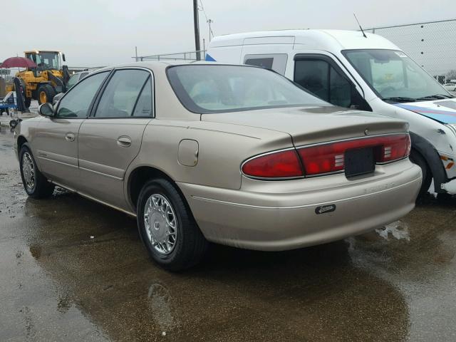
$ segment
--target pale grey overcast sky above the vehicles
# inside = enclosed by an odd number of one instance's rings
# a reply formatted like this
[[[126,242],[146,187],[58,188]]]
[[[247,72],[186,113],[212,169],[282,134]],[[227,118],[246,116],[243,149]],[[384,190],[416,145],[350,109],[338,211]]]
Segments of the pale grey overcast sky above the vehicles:
[[[195,50],[192,0],[5,0],[0,61],[28,49],[66,53],[69,66],[106,66],[138,54]],[[455,0],[202,0],[215,36],[281,28],[356,29],[456,18]],[[48,22],[46,23],[46,19]],[[201,38],[208,27],[199,11]],[[201,39],[202,40],[202,39]]]

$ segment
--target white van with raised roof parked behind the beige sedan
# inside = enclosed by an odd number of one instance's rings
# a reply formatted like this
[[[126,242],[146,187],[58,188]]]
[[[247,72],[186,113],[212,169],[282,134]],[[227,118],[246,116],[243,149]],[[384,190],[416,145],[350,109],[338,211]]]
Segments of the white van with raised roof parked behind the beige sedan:
[[[410,123],[421,193],[456,194],[456,99],[387,39],[358,31],[286,30],[212,39],[206,61],[281,73],[319,98]]]

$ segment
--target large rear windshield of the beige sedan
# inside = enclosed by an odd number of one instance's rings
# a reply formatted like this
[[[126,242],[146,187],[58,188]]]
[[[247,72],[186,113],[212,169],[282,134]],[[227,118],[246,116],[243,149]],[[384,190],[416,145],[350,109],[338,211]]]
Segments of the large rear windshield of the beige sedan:
[[[172,88],[193,113],[328,105],[283,76],[249,66],[189,65],[167,69]]]

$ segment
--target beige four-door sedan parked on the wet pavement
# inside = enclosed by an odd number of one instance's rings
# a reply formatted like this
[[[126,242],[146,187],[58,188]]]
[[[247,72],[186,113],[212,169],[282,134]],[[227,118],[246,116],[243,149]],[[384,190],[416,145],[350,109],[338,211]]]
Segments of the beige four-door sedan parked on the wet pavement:
[[[262,68],[132,63],[90,74],[16,129],[24,187],[54,186],[138,219],[161,266],[208,242],[279,251],[410,212],[408,124],[323,102]]]

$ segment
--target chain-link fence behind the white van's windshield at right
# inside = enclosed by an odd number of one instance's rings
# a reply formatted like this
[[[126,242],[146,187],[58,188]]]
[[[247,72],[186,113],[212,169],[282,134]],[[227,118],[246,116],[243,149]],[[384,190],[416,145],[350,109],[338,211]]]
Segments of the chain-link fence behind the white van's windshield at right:
[[[440,83],[456,80],[456,19],[364,31],[395,43]]]

